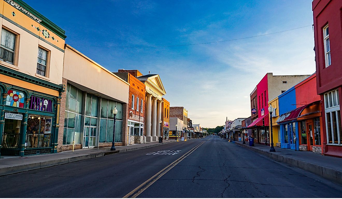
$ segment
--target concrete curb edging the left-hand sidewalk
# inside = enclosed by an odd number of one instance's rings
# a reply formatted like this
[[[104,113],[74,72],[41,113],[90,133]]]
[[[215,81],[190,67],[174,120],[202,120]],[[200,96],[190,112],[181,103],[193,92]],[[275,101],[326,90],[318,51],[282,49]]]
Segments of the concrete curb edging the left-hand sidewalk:
[[[110,155],[110,154],[116,154],[119,152],[135,151],[135,150],[139,150],[141,148],[149,148],[149,147],[157,146],[160,144],[168,144],[168,143],[172,143],[172,142],[175,142],[175,141],[163,142],[163,143],[158,143],[158,144],[154,144],[154,145],[150,145],[150,146],[143,146],[143,147],[136,147],[136,148],[129,148],[129,149],[118,149],[116,151],[105,151],[105,152],[80,155],[80,156],[75,156],[75,157],[67,157],[67,158],[61,158],[61,159],[56,159],[56,160],[34,162],[34,163],[26,164],[26,165],[16,165],[16,166],[11,166],[11,167],[1,168],[0,169],[0,176],[14,174],[14,173],[20,173],[20,172],[30,171],[30,170],[35,170],[35,169],[41,169],[41,168],[46,168],[46,167],[52,167],[52,166],[56,166],[56,165],[67,164],[67,163],[75,162],[75,161],[79,161],[79,160],[86,160],[86,159],[90,159],[90,158],[102,157],[102,156],[106,156],[106,155]]]

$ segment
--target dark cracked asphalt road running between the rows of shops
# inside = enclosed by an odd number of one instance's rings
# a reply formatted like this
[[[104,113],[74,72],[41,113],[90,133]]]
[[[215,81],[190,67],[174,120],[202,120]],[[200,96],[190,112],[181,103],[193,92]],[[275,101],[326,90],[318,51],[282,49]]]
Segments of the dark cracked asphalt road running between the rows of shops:
[[[157,180],[137,188],[166,167]],[[140,198],[327,198],[342,193],[339,185],[217,136],[0,177],[1,198],[121,198],[132,190],[130,196]]]

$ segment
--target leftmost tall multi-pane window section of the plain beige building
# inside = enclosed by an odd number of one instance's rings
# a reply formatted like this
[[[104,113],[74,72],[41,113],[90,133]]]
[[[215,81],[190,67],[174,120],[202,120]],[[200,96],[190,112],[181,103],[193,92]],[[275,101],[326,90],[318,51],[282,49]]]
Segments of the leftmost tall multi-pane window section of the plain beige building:
[[[81,143],[83,91],[73,85],[67,85],[64,115],[63,144]]]

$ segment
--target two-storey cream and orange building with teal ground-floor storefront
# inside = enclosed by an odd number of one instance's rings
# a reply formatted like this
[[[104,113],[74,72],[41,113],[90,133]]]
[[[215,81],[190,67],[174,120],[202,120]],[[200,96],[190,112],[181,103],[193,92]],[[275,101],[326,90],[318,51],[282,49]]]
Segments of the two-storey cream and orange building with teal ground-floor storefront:
[[[21,0],[0,14],[1,154],[56,153],[65,31]]]

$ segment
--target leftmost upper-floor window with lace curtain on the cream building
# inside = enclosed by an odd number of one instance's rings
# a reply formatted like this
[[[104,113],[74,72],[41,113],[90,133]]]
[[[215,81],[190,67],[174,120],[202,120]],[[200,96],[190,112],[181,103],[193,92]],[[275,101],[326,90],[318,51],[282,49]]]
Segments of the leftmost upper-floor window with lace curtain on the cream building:
[[[2,28],[1,29],[1,45],[0,45],[0,59],[8,63],[14,62],[16,35],[12,32]]]

